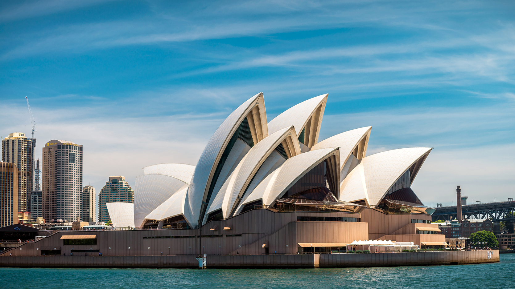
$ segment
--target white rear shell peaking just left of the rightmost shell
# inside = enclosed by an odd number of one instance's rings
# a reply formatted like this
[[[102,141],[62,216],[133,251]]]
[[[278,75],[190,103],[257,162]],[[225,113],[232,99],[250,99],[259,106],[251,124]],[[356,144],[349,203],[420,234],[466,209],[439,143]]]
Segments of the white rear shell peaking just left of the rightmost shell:
[[[365,127],[337,134],[318,142],[311,150],[340,148],[340,182],[342,182],[349,172],[350,165],[347,162],[349,157],[354,155],[357,164],[357,161],[366,156],[371,130],[372,127]]]

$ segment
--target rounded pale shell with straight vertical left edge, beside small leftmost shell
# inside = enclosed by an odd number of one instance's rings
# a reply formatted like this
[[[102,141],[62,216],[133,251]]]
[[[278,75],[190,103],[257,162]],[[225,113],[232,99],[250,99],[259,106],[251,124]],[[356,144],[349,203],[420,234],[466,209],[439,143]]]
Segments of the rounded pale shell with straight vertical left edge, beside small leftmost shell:
[[[188,184],[165,174],[146,174],[136,177],[134,186],[134,224],[142,227],[145,217],[171,195]]]

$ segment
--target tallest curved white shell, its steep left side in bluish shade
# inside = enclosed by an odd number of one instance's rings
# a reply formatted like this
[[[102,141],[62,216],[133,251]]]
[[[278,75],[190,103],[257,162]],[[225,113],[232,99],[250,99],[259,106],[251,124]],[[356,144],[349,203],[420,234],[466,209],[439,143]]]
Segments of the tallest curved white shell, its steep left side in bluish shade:
[[[202,203],[208,201],[209,187],[222,153],[244,118],[249,121],[254,145],[268,136],[263,93],[256,94],[234,110],[218,127],[202,151],[187,192],[190,214],[195,219],[200,216]],[[197,221],[191,225],[197,225]]]

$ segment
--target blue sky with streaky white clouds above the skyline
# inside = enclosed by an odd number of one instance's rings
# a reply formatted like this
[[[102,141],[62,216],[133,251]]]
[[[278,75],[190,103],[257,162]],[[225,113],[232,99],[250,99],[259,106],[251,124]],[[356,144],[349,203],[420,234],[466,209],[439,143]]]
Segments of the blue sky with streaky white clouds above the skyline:
[[[320,139],[372,125],[368,154],[433,147],[426,205],[515,195],[510,1],[18,1],[0,4],[0,135],[84,145],[84,184],[195,165],[263,92],[268,119],[329,93]]]

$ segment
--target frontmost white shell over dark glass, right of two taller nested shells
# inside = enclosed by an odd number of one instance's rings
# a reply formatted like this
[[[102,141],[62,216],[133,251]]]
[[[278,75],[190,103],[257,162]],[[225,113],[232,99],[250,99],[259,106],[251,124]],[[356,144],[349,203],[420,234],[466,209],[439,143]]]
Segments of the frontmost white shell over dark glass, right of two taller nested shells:
[[[284,164],[277,170],[269,174],[256,187],[248,197],[243,200],[236,213],[239,213],[243,206],[262,200],[263,205],[273,205],[278,197],[282,196],[291,186],[293,186],[303,175],[316,167],[320,162],[331,157],[335,157],[336,181],[339,184],[339,154],[338,148],[320,149],[302,153],[300,155],[288,158]],[[335,192],[337,195],[337,192]]]

